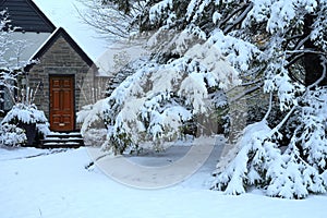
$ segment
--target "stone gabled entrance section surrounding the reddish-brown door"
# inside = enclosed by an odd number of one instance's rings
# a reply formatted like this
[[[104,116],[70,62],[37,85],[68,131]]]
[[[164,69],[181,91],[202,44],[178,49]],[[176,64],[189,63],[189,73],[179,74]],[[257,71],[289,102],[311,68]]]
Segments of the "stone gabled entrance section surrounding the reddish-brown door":
[[[53,32],[32,60],[39,62],[25,68],[28,84],[33,89],[38,86],[35,104],[49,118],[51,130],[76,130],[76,111],[87,100],[82,96],[83,83],[94,81],[93,61],[62,27]]]

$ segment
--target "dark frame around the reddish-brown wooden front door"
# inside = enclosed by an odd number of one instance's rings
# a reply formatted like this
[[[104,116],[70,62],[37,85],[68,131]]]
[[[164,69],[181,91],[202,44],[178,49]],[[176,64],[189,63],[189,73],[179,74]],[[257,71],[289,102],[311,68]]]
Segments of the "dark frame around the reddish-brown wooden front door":
[[[76,130],[76,89],[75,89],[75,74],[49,74],[49,123],[51,130],[51,78],[52,77],[70,77],[73,81],[73,130]],[[71,132],[71,131],[57,131],[57,132]]]

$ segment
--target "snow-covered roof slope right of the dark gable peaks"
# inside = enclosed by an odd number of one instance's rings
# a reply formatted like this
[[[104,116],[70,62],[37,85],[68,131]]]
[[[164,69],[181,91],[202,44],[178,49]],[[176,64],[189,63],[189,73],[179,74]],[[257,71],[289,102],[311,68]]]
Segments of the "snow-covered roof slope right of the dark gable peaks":
[[[94,61],[108,49],[110,41],[100,38],[96,29],[83,23],[78,10],[85,5],[77,0],[33,0],[57,26],[63,27],[84,52]]]

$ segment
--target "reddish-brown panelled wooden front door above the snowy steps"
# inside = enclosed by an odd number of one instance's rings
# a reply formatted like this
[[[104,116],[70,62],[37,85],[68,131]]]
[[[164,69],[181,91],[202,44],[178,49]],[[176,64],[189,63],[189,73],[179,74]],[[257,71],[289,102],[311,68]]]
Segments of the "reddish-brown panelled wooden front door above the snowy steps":
[[[74,77],[50,76],[50,129],[74,130]]]

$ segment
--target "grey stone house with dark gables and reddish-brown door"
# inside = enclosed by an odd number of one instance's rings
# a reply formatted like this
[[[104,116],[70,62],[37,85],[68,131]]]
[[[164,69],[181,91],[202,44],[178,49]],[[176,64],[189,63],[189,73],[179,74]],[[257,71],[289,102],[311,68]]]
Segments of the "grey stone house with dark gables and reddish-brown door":
[[[78,130],[75,114],[87,100],[82,87],[94,83],[97,71],[93,60],[32,0],[0,0],[0,10],[8,10],[12,25],[20,27],[14,39],[31,45],[21,53],[22,59],[37,60],[24,69],[25,75],[16,85],[37,90],[34,104],[45,111],[52,131]],[[3,99],[1,109],[8,110],[11,104],[5,96]]]

